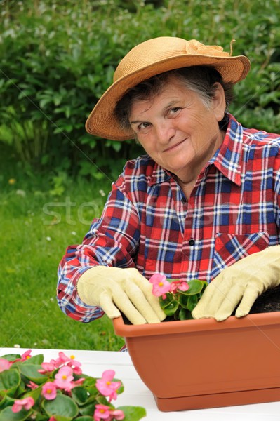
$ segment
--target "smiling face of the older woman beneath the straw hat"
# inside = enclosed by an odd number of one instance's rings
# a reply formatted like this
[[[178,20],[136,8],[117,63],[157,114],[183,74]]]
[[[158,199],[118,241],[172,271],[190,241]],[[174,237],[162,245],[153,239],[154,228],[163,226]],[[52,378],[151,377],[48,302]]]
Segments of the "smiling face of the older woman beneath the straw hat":
[[[147,154],[187,182],[222,144],[218,121],[224,113],[225,93],[219,83],[206,107],[198,93],[173,78],[152,100],[135,101],[129,120]]]

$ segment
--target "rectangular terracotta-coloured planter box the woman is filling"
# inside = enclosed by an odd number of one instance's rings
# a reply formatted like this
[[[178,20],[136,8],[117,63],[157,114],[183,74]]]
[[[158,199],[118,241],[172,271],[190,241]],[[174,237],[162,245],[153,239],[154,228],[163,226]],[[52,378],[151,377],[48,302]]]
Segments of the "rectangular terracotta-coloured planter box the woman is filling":
[[[280,401],[280,312],[133,326],[114,319],[159,410]]]

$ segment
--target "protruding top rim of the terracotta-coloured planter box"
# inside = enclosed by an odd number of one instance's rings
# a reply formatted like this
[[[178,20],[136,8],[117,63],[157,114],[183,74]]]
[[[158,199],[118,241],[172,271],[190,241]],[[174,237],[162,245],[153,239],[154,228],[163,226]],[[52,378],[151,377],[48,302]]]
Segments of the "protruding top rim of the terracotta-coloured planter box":
[[[225,321],[213,318],[199,320],[166,321],[142,325],[126,325],[122,317],[113,319],[116,335],[129,338],[130,336],[151,336],[182,332],[201,332],[204,330],[223,330],[234,328],[258,328],[259,326],[280,324],[280,312],[256,313],[238,319],[230,316]]]

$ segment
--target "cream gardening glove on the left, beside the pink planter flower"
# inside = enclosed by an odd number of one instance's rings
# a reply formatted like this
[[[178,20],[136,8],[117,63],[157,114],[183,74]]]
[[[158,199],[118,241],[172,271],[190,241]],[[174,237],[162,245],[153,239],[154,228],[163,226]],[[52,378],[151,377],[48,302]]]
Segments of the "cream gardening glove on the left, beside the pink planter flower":
[[[152,283],[134,268],[91,267],[81,275],[77,289],[82,301],[101,307],[109,319],[121,316],[120,311],[133,324],[159,323],[166,317],[152,294]]]

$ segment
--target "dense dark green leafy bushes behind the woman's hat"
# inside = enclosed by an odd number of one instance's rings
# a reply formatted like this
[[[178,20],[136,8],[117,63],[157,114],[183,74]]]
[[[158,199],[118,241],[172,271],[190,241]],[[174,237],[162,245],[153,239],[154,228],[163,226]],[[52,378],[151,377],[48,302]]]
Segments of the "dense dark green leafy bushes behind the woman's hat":
[[[232,112],[245,126],[280,131],[278,0],[1,1],[0,141],[32,168],[114,179],[142,153],[100,140],[84,123],[119,60],[155,36],[180,36],[247,55]]]

